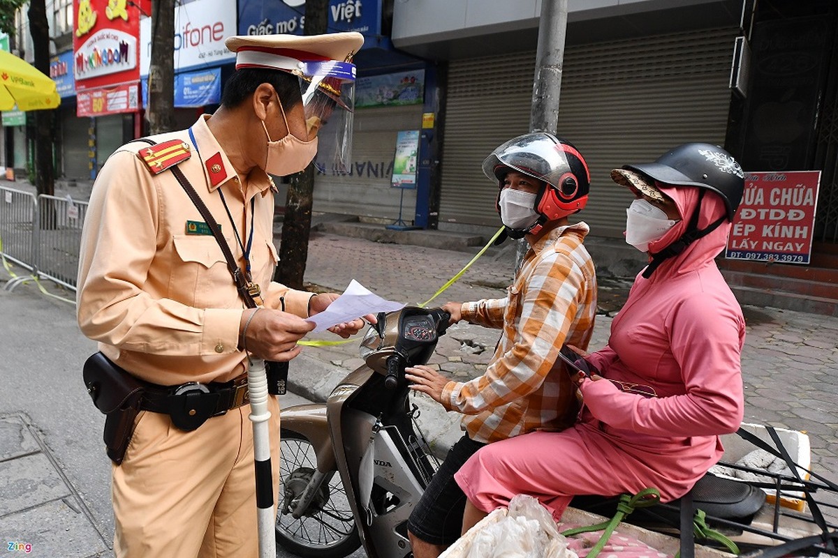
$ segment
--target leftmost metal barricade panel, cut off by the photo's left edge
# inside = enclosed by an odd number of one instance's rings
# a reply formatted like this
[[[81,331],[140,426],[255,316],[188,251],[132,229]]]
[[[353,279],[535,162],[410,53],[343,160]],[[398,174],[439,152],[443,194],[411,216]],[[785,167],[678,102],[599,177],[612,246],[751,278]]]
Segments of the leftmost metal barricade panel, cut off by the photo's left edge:
[[[0,187],[0,253],[33,271],[38,259],[38,209],[33,193]]]

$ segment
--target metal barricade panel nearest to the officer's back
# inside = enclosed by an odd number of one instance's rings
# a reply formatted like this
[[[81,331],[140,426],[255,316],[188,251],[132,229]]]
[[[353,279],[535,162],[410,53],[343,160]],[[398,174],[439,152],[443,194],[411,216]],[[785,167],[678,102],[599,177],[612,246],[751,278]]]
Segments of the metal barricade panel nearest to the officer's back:
[[[40,213],[37,249],[39,275],[75,290],[79,271],[81,226],[87,202],[67,197],[38,197]]]

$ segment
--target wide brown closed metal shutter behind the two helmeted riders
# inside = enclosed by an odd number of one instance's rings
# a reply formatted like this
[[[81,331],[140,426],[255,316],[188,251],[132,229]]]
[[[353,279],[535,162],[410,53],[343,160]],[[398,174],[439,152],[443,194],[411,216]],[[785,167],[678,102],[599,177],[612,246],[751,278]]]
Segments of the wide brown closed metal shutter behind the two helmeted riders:
[[[569,47],[559,99],[558,135],[591,170],[579,214],[603,237],[622,236],[629,192],[612,168],[654,161],[686,141],[722,145],[733,28]],[[440,223],[496,225],[496,185],[480,165],[495,146],[529,129],[535,53],[502,60],[453,61],[442,153]]]

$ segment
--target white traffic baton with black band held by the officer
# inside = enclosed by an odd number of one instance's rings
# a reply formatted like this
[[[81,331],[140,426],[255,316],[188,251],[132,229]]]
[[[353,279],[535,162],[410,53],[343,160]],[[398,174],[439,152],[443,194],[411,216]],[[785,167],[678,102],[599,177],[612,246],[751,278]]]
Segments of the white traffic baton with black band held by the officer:
[[[271,412],[267,408],[267,376],[265,361],[251,359],[247,370],[247,392],[251,400],[253,422],[253,457],[256,468],[256,525],[259,532],[259,557],[276,558],[277,515],[273,507],[271,473]]]

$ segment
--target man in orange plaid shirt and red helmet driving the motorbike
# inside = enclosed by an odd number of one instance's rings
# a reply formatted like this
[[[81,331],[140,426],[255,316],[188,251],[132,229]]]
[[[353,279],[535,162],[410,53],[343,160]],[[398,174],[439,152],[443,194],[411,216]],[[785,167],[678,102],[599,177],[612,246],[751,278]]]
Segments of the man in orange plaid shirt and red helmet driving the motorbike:
[[[486,158],[497,179],[496,209],[511,238],[530,249],[505,299],[449,302],[451,323],[502,330],[483,376],[449,381],[428,366],[406,369],[411,389],[448,411],[465,414],[466,433],[453,445],[407,526],[413,555],[442,554],[460,536],[465,495],[453,479],[486,443],[534,430],[561,430],[577,415],[570,376],[557,356],[565,344],[587,349],[597,310],[597,279],[582,245],[588,227],[570,224],[585,207],[587,163],[575,147],[545,132],[518,136]]]

